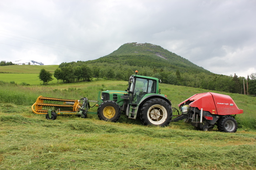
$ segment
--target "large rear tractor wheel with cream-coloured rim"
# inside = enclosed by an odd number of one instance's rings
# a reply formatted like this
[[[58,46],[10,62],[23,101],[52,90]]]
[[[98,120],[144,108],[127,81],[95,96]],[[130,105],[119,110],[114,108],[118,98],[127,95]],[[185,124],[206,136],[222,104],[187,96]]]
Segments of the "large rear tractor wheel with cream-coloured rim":
[[[140,119],[144,125],[168,126],[171,118],[171,105],[161,98],[149,99],[141,108]]]

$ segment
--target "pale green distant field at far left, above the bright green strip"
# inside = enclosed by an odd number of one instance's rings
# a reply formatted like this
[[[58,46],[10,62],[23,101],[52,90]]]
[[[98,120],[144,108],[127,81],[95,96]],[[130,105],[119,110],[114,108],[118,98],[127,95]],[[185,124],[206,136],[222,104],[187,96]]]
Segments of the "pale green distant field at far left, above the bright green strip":
[[[44,68],[47,71],[54,72],[59,65],[46,66],[32,66],[32,65],[12,65],[0,66],[0,73],[34,73],[39,74],[40,70]]]

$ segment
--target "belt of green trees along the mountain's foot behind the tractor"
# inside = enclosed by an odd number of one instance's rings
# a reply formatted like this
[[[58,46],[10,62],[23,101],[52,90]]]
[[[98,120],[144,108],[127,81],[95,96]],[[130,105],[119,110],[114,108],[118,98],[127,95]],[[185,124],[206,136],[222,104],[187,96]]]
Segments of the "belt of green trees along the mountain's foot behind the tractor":
[[[182,72],[179,69],[170,71],[166,68],[138,67],[104,62],[88,64],[78,61],[61,63],[52,76],[58,82],[64,83],[91,81],[92,78],[128,81],[135,70],[139,70],[139,75],[156,77],[166,84],[256,95],[256,73],[251,73],[245,78],[238,77],[236,74],[226,76],[207,72]]]

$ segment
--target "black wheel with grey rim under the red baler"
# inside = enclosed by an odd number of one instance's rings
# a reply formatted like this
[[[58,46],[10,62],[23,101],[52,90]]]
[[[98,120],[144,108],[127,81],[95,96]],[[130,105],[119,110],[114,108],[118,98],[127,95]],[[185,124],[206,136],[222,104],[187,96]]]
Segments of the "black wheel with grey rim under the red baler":
[[[232,116],[219,118],[217,125],[220,132],[235,133],[237,130],[237,123]]]

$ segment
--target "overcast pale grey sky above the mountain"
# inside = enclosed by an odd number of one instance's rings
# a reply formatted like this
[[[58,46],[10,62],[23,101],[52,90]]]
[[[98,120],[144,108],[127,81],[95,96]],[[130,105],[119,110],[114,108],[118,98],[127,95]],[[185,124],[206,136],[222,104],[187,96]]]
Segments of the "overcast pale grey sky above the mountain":
[[[0,60],[45,65],[151,43],[213,73],[256,72],[256,0],[0,0]]]

